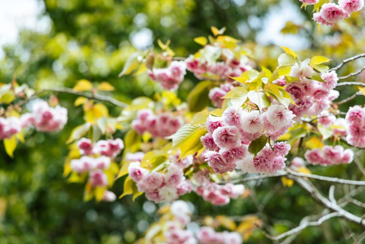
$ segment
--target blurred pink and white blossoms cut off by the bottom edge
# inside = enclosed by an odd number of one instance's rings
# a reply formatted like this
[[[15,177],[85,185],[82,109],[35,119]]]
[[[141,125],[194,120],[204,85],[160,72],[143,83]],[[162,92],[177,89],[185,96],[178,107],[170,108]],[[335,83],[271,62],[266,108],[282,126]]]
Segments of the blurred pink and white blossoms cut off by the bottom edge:
[[[186,229],[192,214],[189,206],[182,200],[173,202],[170,212],[174,218],[166,223],[164,237],[167,244],[241,244],[242,237],[237,232],[216,232],[209,226],[201,226],[195,234],[192,230]]]

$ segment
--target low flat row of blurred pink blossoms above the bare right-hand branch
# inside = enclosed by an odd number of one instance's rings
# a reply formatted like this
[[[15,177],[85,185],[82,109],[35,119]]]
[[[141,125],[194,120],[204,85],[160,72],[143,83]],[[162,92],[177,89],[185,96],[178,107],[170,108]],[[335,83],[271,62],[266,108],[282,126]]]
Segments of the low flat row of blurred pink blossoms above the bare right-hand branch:
[[[326,145],[322,150],[319,148],[307,150],[304,157],[310,164],[328,166],[349,164],[353,160],[354,153],[351,149],[344,150],[340,145],[335,147]]]

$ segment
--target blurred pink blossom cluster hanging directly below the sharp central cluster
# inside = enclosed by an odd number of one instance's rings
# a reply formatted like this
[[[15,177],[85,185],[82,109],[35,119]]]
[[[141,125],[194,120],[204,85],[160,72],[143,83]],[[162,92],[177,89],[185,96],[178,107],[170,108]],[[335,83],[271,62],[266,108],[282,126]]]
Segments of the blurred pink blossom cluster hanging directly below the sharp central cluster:
[[[203,171],[193,175],[192,183],[194,185],[193,191],[202,196],[205,201],[214,205],[226,205],[231,199],[237,199],[245,191],[245,186],[242,184],[226,183],[225,185],[218,185],[210,181]]]

